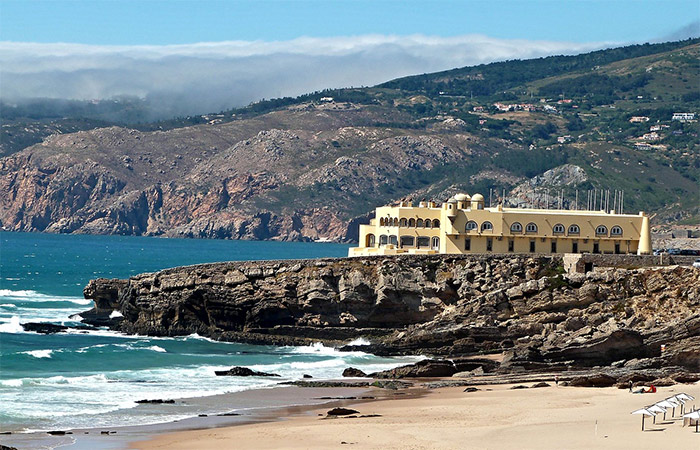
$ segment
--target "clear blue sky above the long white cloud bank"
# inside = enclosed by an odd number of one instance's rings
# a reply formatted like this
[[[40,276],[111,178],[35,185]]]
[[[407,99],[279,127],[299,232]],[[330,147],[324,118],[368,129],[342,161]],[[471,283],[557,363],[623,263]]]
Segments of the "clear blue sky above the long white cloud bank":
[[[698,0],[0,0],[0,40],[167,45],[300,36],[459,36],[639,42],[700,18]]]

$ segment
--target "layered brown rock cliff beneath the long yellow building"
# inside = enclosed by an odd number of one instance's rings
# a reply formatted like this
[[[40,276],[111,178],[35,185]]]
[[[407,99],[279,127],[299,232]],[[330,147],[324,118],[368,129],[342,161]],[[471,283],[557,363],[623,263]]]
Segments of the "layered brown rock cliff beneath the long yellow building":
[[[386,355],[505,352],[512,370],[700,370],[700,271],[564,274],[561,264],[529,255],[204,264],[93,280],[85,296],[96,308],[83,317],[118,310],[113,327],[127,333],[277,345],[364,337],[372,344],[343,348]]]

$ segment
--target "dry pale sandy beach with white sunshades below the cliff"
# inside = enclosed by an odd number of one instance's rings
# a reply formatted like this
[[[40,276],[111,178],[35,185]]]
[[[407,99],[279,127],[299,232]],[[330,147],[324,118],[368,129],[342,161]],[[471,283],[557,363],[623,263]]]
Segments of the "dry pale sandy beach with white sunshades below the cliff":
[[[190,430],[133,442],[151,449],[659,449],[700,448],[700,433],[667,414],[645,421],[636,409],[680,392],[696,398],[700,385],[659,388],[655,394],[626,389],[551,387],[510,389],[512,385],[434,389],[425,396],[392,398],[350,406],[380,417],[327,419],[328,408],[313,409],[276,422]],[[322,416],[319,416],[322,414]]]

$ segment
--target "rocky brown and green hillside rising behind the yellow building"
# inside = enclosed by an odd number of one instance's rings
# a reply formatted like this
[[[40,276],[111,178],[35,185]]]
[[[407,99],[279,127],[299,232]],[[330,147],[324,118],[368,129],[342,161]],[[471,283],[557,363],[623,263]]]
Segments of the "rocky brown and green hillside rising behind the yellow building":
[[[562,190],[567,206],[577,190],[581,204],[588,189],[624,189],[628,212],[694,223],[698,124],[672,115],[700,109],[698,56],[698,40],[633,46],[169,122],[36,132],[40,143],[0,159],[0,222],[22,231],[353,240],[375,206],[401,198],[493,190],[495,200],[505,190],[509,204],[549,197],[553,206],[549,189]]]

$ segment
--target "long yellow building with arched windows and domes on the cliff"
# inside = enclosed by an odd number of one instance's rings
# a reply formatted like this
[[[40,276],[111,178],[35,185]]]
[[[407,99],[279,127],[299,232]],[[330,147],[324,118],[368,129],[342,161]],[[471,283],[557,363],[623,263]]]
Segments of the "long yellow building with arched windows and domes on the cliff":
[[[442,205],[377,208],[360,225],[349,256],[464,253],[651,253],[649,217],[640,212],[484,207],[484,197],[458,194]]]

